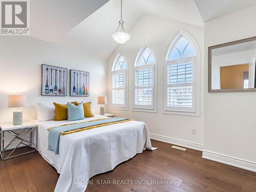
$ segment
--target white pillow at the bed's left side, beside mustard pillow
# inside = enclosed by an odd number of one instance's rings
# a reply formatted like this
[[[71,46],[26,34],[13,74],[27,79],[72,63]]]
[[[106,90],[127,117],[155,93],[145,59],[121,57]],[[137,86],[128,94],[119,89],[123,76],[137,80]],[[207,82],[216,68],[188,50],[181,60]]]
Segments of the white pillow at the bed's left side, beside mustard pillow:
[[[38,121],[50,121],[56,119],[53,102],[36,102],[36,112]]]

